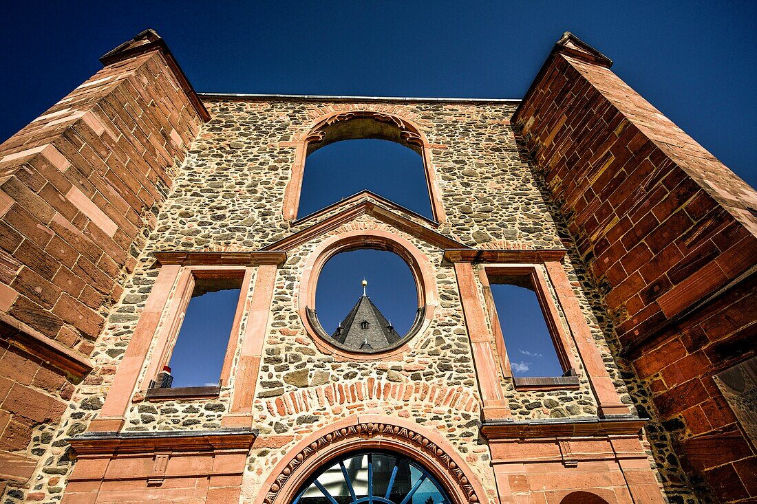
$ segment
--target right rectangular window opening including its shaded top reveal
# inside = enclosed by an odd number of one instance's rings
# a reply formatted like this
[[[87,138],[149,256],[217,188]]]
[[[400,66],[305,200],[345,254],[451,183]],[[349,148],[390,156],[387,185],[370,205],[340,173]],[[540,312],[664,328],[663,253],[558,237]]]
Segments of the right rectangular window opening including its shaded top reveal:
[[[488,280],[516,385],[519,382],[539,385],[533,379],[573,375],[562,347],[555,341],[554,330],[550,328],[550,324],[558,324],[559,321],[551,320],[545,313],[544,300],[540,301],[540,294],[544,293],[535,288],[531,272],[489,272]],[[532,380],[524,381],[523,378]]]

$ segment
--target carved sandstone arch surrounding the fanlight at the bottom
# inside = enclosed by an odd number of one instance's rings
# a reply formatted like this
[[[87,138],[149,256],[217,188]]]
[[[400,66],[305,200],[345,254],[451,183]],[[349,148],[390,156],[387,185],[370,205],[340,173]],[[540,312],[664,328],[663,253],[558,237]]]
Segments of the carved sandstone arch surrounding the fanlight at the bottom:
[[[294,493],[318,468],[357,450],[400,453],[429,471],[447,490],[451,504],[478,504],[486,499],[481,482],[441,434],[404,418],[360,415],[321,429],[288,451],[273,468],[254,504],[289,504]]]

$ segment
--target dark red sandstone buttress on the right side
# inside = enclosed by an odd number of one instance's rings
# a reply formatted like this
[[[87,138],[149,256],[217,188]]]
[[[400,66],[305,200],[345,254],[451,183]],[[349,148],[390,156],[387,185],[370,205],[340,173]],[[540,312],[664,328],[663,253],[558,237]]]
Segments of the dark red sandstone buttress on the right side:
[[[513,120],[693,481],[754,498],[753,440],[713,376],[755,354],[757,194],[610,64],[565,36]]]

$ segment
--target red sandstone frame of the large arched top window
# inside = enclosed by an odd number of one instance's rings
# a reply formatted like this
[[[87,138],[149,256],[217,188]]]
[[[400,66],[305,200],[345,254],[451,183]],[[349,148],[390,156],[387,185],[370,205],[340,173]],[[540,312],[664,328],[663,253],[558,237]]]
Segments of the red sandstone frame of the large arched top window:
[[[339,110],[337,112],[325,114],[316,119],[307,129],[307,132],[300,135],[298,141],[283,142],[280,144],[282,147],[296,148],[294,163],[291,166],[291,179],[284,192],[284,201],[282,204],[284,218],[289,221],[298,219],[297,213],[300,207],[302,181],[310,145],[322,142],[330,126],[353,119],[370,119],[375,120],[378,123],[394,125],[399,130],[401,139],[400,143],[413,148],[413,150],[417,149],[423,162],[423,172],[425,173],[426,185],[428,188],[428,198],[431,201],[431,213],[435,222],[445,222],[447,216],[444,213],[444,206],[441,202],[441,188],[439,188],[434,164],[432,162],[431,149],[444,149],[447,148],[447,146],[430,144],[419,126],[407,117],[400,117],[397,114],[390,114],[384,111],[378,112],[375,110]],[[371,137],[357,135],[353,138]],[[350,138],[342,139],[347,140]]]

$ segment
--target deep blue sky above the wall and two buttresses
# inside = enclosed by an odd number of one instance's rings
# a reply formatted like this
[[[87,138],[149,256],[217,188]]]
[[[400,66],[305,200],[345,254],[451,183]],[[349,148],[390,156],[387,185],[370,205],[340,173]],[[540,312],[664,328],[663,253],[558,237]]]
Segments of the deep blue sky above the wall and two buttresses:
[[[9,2],[0,138],[152,27],[198,91],[521,98],[570,30],[752,185],[757,2]]]

